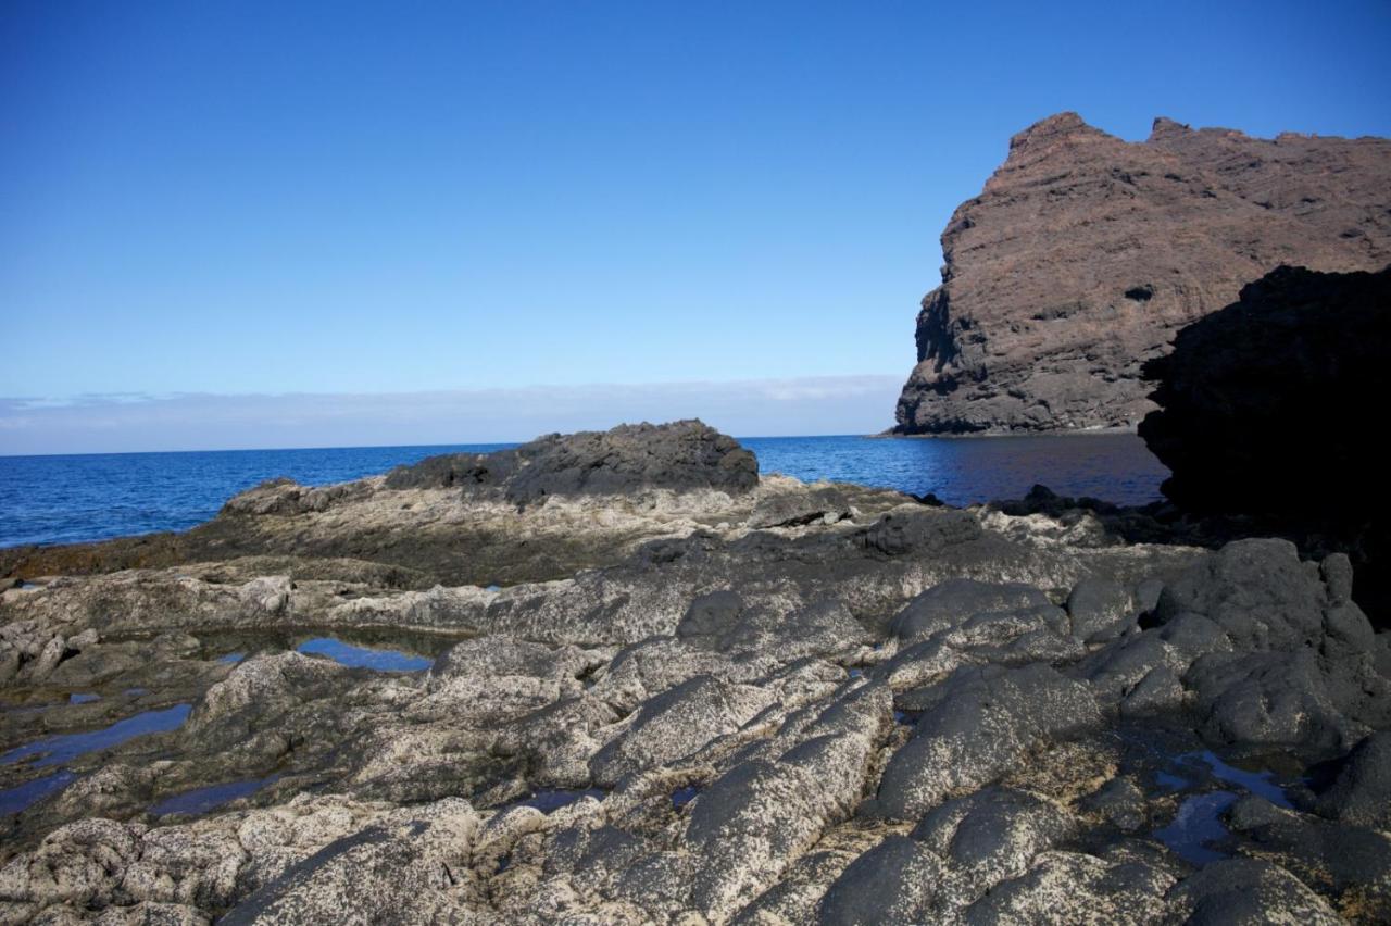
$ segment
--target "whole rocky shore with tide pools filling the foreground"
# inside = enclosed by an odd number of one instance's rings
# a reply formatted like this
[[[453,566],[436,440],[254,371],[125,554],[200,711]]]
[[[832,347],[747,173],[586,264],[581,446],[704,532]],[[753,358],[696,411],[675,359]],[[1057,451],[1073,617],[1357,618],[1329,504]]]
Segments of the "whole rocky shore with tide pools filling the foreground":
[[[687,421],[6,551],[0,923],[1391,918],[1348,559],[1123,521]]]

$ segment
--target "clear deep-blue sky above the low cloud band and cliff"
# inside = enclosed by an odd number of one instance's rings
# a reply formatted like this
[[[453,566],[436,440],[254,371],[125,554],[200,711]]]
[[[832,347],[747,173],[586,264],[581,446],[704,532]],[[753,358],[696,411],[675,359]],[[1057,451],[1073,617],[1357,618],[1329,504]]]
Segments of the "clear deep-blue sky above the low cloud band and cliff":
[[[7,0],[0,396],[901,378],[1011,133],[1391,135],[1388,47],[1387,0]]]

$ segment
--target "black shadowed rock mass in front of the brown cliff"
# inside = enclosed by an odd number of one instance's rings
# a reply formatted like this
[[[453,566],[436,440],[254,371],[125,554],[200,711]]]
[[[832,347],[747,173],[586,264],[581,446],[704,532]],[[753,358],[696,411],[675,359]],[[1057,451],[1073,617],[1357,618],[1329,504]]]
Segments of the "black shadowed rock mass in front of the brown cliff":
[[[1164,494],[1203,514],[1245,514],[1310,553],[1344,549],[1353,596],[1391,605],[1376,423],[1391,395],[1391,268],[1281,267],[1184,328],[1145,367],[1161,406],[1139,427],[1173,470]]]

